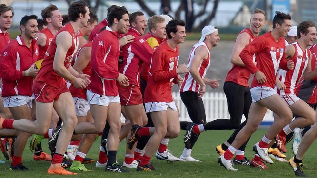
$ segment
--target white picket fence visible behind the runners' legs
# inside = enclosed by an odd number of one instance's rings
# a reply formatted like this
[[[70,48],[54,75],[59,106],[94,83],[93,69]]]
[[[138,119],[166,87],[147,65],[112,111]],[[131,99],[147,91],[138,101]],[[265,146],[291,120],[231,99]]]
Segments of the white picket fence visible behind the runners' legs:
[[[184,103],[180,99],[179,92],[173,92],[172,96],[174,98],[175,103],[177,104],[180,112],[180,121],[191,121],[187,109],[184,105]],[[205,93],[205,95],[202,97],[202,100],[204,102],[205,106],[205,112],[206,112],[206,120],[207,122],[215,120],[215,119],[229,119],[230,114],[228,112],[228,105],[227,105],[227,99],[226,95],[222,92],[209,92]],[[243,116],[242,121],[244,121],[245,118]],[[273,112],[268,110],[264,119],[264,122],[273,122]]]

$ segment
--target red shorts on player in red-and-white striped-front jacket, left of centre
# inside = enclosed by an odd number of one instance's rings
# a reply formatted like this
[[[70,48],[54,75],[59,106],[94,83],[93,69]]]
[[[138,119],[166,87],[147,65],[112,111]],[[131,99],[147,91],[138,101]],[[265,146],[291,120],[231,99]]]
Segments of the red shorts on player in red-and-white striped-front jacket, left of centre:
[[[124,105],[139,105],[143,103],[142,93],[139,86],[128,86],[118,88],[120,95],[121,106]]]

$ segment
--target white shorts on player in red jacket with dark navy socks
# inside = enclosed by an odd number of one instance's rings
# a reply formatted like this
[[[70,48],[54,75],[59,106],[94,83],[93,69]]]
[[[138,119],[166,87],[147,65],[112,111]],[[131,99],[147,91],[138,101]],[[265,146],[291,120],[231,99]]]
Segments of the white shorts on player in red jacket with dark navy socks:
[[[87,99],[89,104],[109,106],[110,103],[120,103],[120,96],[99,95],[87,89]]]

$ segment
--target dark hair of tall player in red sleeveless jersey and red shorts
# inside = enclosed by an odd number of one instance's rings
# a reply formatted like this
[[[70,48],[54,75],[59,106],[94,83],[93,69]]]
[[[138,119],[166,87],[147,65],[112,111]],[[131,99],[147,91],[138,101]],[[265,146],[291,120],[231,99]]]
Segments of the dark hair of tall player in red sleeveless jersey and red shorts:
[[[68,8],[68,19],[69,21],[76,21],[79,18],[79,14],[82,13],[83,17],[86,14],[86,8],[88,4],[84,1],[76,1],[70,4]]]

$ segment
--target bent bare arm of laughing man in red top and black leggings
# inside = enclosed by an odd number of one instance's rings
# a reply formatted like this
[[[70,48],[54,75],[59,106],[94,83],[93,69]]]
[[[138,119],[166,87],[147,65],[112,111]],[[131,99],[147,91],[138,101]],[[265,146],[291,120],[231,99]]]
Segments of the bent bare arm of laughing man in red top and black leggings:
[[[242,49],[249,44],[250,36],[247,33],[242,33],[238,35],[235,46],[232,49],[232,53],[230,56],[230,62],[232,64],[238,66],[245,66],[241,58],[239,57],[240,52]]]

